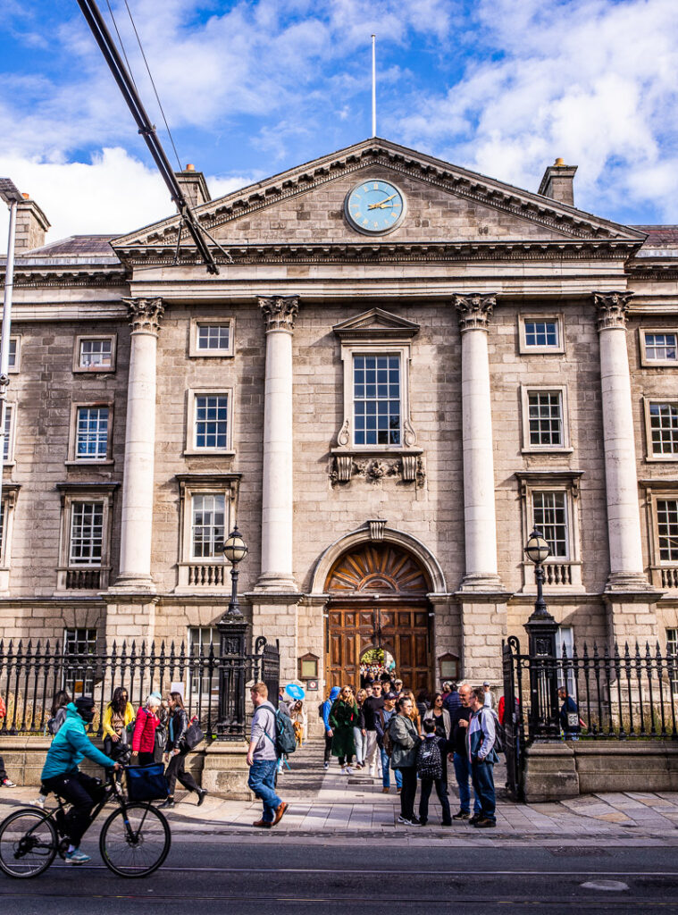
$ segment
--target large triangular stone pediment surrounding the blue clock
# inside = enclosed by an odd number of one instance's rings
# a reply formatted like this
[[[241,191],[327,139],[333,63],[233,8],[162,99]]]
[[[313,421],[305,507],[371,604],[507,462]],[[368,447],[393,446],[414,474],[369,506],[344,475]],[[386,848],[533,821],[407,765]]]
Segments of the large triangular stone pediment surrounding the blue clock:
[[[397,228],[375,237],[355,231],[345,216],[351,188],[367,178],[393,182],[407,207]],[[645,238],[628,226],[378,138],[210,200],[196,215],[226,249],[224,256],[236,259],[241,251],[252,257],[256,246],[285,249],[280,256],[286,256],[300,245],[610,242],[625,248]],[[114,240],[113,248],[123,258],[145,249],[164,257],[176,250],[179,227],[173,216]],[[191,247],[184,229],[179,248],[183,253]]]

